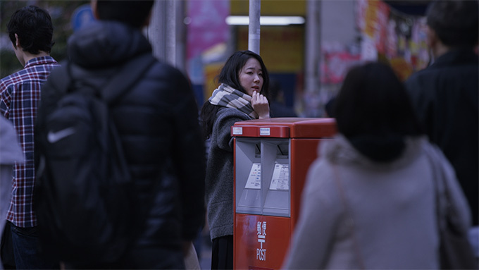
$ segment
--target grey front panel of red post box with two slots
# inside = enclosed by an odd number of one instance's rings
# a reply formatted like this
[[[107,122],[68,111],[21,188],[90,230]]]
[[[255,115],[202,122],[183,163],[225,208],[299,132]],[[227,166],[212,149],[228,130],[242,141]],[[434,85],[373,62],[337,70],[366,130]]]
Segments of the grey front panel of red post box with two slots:
[[[237,137],[236,212],[290,216],[290,139]]]

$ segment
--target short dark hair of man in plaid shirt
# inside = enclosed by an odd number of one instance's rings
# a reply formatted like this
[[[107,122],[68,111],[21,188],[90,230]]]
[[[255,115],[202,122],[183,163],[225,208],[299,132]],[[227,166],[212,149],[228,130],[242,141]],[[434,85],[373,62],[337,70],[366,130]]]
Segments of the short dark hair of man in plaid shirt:
[[[6,26],[8,37],[13,46],[15,34],[23,48],[30,54],[39,54],[40,51],[50,53],[53,47],[54,27],[48,12],[37,6],[25,6],[15,11]]]

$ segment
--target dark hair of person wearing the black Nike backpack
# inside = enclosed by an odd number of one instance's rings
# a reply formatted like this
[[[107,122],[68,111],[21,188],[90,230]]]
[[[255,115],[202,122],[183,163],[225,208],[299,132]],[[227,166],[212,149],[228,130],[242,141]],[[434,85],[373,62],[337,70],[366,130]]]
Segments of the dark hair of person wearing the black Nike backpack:
[[[154,1],[98,0],[100,20],[116,20],[132,27],[142,27],[148,18]]]

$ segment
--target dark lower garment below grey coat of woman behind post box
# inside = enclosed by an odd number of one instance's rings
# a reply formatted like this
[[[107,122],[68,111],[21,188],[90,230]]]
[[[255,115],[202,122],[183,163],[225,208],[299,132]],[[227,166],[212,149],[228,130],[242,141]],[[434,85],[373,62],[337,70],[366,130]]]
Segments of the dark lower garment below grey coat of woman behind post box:
[[[233,269],[233,235],[213,239],[211,269]]]

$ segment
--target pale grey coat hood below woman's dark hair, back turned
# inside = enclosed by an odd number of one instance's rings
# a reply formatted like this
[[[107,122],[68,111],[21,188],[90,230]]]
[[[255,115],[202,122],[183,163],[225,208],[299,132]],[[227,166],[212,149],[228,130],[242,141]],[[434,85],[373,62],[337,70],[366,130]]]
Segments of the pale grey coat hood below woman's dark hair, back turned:
[[[338,134],[333,140],[322,142],[318,147],[318,154],[320,157],[325,157],[325,159],[335,164],[354,164],[368,168],[401,168],[410,164],[421,155],[421,145],[426,142],[427,138],[424,136],[406,137],[404,139],[404,151],[397,159],[388,162],[378,162],[361,154],[344,135]]]

